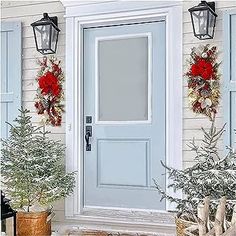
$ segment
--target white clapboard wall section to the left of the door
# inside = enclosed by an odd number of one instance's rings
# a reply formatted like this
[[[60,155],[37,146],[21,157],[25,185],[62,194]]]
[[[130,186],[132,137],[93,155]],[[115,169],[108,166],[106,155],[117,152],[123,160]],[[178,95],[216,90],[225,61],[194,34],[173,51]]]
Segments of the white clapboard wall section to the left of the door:
[[[1,2],[1,20],[2,21],[20,21],[22,23],[22,100],[23,106],[31,111],[31,116],[35,125],[40,125],[40,116],[35,113],[34,97],[37,83],[35,76],[39,66],[36,63],[37,58],[42,58],[42,54],[36,51],[33,29],[31,23],[43,17],[43,12],[49,16],[57,16],[59,28],[61,30],[58,39],[57,57],[62,60],[64,70],[65,62],[65,19],[64,7],[60,1],[2,1]],[[52,138],[65,142],[65,116],[61,127],[48,127]],[[63,221],[64,202],[58,202],[55,206],[56,219]]]

